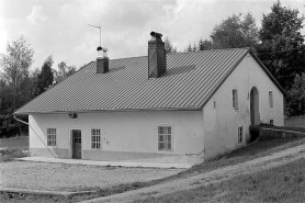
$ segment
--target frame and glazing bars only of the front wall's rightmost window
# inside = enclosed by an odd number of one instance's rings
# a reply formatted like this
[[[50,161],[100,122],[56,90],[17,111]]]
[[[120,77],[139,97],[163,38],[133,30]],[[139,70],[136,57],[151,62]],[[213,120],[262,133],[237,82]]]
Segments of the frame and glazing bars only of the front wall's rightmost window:
[[[160,134],[159,133],[159,127],[170,127],[170,134],[169,133],[162,133]],[[160,142],[160,135],[163,136],[163,142]],[[170,140],[168,138],[168,136],[170,135]],[[167,138],[165,138],[165,136],[167,136]],[[166,151],[173,151],[173,126],[171,124],[158,124],[157,125],[157,148],[158,148],[158,151],[162,151],[162,153],[166,153]],[[163,148],[160,148],[160,143],[163,143],[165,144],[165,147]],[[168,145],[170,144],[170,147],[168,147]]]

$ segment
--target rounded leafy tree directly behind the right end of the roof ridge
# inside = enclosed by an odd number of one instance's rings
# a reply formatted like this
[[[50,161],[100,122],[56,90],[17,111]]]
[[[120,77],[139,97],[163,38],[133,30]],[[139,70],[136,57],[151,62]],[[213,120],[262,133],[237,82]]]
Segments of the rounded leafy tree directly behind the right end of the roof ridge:
[[[211,34],[214,48],[255,48],[258,43],[258,27],[251,13],[241,20],[242,13],[233,14],[216,25]]]

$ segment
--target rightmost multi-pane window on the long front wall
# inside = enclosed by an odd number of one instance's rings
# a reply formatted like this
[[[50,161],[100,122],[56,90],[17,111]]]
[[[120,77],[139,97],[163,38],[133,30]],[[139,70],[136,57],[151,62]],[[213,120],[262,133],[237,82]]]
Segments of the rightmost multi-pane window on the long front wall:
[[[171,126],[158,126],[158,149],[171,150]]]

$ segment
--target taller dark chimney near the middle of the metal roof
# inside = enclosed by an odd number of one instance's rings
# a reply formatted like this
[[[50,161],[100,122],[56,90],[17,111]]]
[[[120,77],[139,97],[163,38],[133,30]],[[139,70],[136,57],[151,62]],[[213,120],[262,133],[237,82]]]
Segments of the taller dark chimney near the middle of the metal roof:
[[[158,78],[167,69],[167,57],[162,34],[151,32],[148,41],[148,78]]]

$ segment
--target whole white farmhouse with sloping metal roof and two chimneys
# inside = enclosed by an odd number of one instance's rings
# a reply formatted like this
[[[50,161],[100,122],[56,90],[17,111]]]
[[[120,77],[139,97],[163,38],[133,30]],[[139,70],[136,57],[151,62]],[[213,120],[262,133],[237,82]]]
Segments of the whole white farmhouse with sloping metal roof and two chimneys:
[[[20,108],[31,156],[197,163],[247,145],[250,125],[283,125],[283,89],[249,48],[109,59]]]

